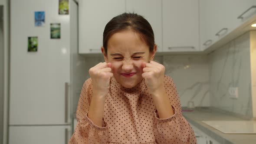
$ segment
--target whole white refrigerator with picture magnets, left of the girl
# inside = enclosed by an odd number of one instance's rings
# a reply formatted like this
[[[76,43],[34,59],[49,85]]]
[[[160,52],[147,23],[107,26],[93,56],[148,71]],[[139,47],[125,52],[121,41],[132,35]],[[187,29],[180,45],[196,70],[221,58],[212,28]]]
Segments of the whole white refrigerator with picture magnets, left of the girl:
[[[67,144],[72,135],[70,21],[78,6],[69,0],[68,15],[58,8],[59,0],[10,0],[9,144]],[[43,26],[35,26],[35,11],[45,12]],[[60,23],[60,39],[50,38],[50,23]],[[31,36],[37,52],[28,52]]]

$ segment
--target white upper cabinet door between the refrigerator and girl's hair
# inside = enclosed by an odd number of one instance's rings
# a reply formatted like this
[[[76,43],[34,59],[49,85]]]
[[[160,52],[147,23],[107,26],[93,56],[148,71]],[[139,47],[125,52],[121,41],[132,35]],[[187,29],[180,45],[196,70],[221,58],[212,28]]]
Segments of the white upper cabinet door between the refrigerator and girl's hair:
[[[125,0],[79,0],[79,53],[101,53],[105,25],[125,12]]]

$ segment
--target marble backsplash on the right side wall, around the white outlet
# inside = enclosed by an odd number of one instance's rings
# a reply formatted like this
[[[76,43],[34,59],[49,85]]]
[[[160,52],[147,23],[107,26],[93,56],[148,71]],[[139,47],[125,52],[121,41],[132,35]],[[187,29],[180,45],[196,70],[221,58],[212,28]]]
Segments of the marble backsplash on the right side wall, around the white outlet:
[[[210,105],[251,118],[249,32],[210,53],[209,70]],[[238,98],[230,98],[230,87],[237,87]]]

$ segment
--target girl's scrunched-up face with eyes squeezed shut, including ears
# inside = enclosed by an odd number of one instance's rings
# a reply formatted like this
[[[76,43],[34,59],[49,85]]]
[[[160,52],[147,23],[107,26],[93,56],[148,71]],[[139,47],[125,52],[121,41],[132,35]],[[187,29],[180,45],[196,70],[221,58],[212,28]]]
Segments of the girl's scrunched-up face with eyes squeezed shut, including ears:
[[[111,62],[112,73],[119,84],[125,88],[132,88],[142,81],[142,62],[150,62],[154,59],[156,45],[153,52],[149,52],[149,46],[141,40],[138,33],[131,30],[113,34],[108,39],[108,52],[105,54],[102,47],[105,62]]]

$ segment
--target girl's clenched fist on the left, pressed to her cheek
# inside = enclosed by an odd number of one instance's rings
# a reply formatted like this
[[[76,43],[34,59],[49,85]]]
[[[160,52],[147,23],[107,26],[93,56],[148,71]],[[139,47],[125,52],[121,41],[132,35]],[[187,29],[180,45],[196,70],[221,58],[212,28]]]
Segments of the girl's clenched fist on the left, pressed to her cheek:
[[[91,69],[89,74],[92,79],[92,92],[95,96],[107,96],[110,86],[110,79],[113,76],[111,72],[111,63],[100,62]]]

